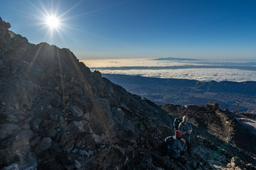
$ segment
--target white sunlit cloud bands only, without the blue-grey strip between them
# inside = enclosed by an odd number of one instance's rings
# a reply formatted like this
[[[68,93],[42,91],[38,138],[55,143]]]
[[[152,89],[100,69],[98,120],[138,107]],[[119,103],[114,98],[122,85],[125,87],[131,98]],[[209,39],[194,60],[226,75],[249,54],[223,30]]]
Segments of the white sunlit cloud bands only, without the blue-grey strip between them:
[[[225,69],[225,68],[196,68],[196,69],[150,69],[150,67],[173,67],[187,65],[203,65],[213,66],[221,65],[223,62],[204,61],[203,64],[195,64],[193,62],[174,62],[174,61],[157,61],[146,59],[129,59],[129,60],[83,60],[87,67],[97,69],[99,67],[102,74],[125,74],[125,75],[141,75],[143,77],[156,77],[166,79],[196,79],[198,81],[256,81],[256,71],[246,69]],[[233,62],[238,66],[245,62]],[[247,62],[246,62],[247,63]],[[248,64],[248,63],[247,63]],[[250,65],[255,67],[255,65]],[[105,68],[104,68],[105,67]],[[111,69],[110,67],[149,67],[149,69]],[[225,67],[225,66],[224,66]],[[93,71],[93,70],[92,70]]]

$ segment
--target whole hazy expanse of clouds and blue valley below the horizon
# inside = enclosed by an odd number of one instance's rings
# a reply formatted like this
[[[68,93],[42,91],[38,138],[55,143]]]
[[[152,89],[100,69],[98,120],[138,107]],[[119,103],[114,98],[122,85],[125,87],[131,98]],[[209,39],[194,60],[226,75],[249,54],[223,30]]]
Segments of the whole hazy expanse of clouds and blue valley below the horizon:
[[[254,61],[161,58],[82,62],[132,94],[159,105],[206,106],[213,101],[230,111],[256,111]]]

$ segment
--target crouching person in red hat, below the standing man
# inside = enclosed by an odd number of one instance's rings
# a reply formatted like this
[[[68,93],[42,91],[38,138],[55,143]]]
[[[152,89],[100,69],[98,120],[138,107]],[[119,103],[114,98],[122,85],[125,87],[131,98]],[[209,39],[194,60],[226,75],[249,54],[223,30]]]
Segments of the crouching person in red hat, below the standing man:
[[[186,141],[181,138],[181,132],[176,130],[174,136],[174,142],[171,143],[171,157],[176,159],[178,162],[183,163],[181,159],[181,152],[185,147]]]

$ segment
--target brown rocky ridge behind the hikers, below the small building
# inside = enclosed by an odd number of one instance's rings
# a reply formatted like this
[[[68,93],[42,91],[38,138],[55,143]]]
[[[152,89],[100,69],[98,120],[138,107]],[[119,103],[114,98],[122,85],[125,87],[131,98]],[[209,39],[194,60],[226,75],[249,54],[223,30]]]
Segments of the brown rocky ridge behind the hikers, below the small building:
[[[211,139],[212,142],[223,144],[229,143],[236,146],[238,149],[246,151],[245,153],[238,152],[239,157],[250,159],[250,156],[255,157],[256,149],[251,147],[256,145],[256,134],[252,130],[247,130],[238,122],[229,111],[211,110],[205,106],[177,106],[166,104],[161,108],[168,112],[171,116],[182,117],[187,115],[190,122],[194,125],[195,134]],[[253,130],[255,128],[252,127]],[[210,137],[210,136],[213,136]],[[218,140],[215,141],[215,137]],[[219,144],[219,145],[222,145]],[[226,144],[225,144],[226,145]],[[248,154],[249,157],[246,156]]]

